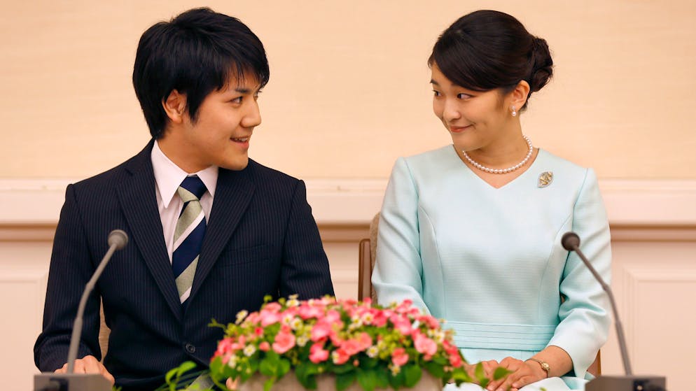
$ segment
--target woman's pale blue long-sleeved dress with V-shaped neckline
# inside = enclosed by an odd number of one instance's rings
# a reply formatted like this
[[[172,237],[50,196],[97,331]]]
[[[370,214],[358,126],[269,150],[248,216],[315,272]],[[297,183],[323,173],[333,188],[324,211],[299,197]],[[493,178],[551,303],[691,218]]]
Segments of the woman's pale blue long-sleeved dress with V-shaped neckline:
[[[547,172],[552,180],[540,186]],[[524,390],[581,390],[611,319],[601,285],[561,246],[571,230],[608,283],[609,227],[592,169],[540,149],[527,171],[496,189],[452,145],[399,158],[382,205],[377,301],[412,299],[445,319],[472,363],[526,360],[558,346],[573,360],[571,376]]]

